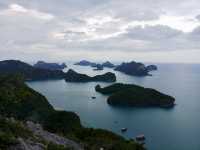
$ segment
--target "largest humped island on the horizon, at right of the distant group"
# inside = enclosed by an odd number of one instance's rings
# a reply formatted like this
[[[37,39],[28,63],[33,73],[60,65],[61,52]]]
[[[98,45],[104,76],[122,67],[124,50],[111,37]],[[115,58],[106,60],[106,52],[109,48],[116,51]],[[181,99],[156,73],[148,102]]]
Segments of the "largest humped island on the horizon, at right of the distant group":
[[[151,68],[151,67],[149,67]],[[148,76],[150,69],[148,69],[144,64],[137,63],[135,61],[129,63],[122,63],[117,66],[114,70],[123,72],[132,76]]]

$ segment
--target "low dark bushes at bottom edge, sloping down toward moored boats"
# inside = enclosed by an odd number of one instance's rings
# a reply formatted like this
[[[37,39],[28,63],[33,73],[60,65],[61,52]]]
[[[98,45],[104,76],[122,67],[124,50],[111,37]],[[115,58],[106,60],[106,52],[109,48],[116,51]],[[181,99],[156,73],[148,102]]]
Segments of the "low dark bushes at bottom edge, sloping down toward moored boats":
[[[134,141],[125,140],[112,132],[102,129],[82,128],[74,132],[75,136],[85,144],[86,150],[144,150]]]

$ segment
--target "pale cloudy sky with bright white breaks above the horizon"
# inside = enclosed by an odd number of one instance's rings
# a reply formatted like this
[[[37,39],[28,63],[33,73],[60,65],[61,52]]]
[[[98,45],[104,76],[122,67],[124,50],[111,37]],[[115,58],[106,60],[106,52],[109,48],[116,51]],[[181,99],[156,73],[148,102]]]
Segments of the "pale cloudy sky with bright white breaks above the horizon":
[[[0,0],[0,60],[200,63],[199,0]]]

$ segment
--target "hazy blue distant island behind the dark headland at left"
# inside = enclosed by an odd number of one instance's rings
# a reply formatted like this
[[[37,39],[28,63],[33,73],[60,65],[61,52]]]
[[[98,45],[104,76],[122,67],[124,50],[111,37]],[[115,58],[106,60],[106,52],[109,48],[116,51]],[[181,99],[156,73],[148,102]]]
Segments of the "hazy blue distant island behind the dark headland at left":
[[[36,68],[48,69],[48,70],[63,70],[67,67],[67,65],[65,63],[62,63],[60,65],[58,63],[47,63],[47,62],[44,62],[44,61],[38,61],[33,66],[36,67]]]

